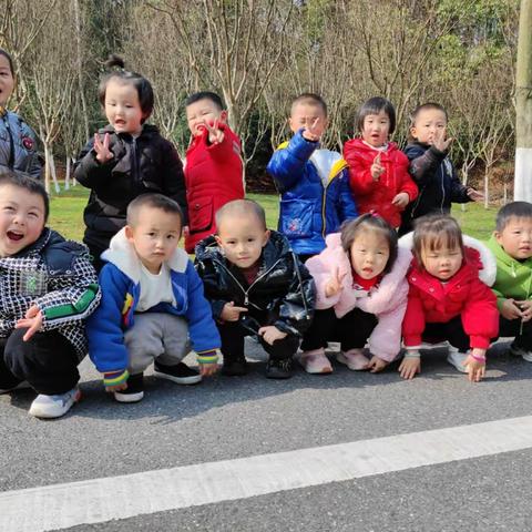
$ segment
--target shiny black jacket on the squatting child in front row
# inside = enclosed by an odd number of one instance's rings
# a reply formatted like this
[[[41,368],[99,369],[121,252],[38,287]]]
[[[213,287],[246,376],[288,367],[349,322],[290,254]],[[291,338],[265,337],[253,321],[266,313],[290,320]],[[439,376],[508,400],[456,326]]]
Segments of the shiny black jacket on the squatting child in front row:
[[[216,320],[219,321],[224,305],[234,301],[249,309],[241,314],[241,321],[255,332],[257,323],[275,325],[283,332],[297,336],[310,326],[316,299],[314,279],[280,233],[272,232],[260,256],[258,277],[252,285],[239,268],[225,259],[214,236],[197,244],[196,268]]]

